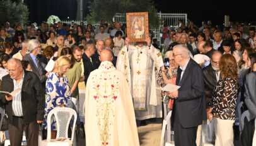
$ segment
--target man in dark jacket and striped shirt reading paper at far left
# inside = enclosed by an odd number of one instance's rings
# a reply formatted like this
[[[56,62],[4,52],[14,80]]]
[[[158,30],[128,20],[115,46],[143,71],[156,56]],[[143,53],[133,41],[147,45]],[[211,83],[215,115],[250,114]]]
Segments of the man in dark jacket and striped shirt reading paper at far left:
[[[0,94],[0,101],[8,115],[9,139],[12,146],[20,146],[23,131],[28,146],[38,145],[39,125],[44,118],[44,90],[35,73],[24,71],[21,61],[11,59],[9,75],[3,77],[2,91],[18,91],[15,95]]]

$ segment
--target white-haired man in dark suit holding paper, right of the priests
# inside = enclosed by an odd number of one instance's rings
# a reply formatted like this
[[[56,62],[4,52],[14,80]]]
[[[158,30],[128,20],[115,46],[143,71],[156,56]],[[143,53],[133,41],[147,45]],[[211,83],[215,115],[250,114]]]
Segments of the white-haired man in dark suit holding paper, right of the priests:
[[[168,93],[175,99],[172,115],[175,146],[196,146],[197,127],[206,120],[202,70],[189,54],[187,46],[173,47],[173,57],[179,65],[176,83],[181,86]]]

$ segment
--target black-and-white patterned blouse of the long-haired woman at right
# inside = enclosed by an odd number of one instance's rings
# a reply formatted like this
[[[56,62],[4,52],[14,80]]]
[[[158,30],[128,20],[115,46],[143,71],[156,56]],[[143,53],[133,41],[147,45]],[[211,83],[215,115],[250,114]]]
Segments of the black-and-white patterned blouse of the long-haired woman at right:
[[[219,80],[212,93],[212,113],[222,120],[235,120],[238,81],[233,78]]]

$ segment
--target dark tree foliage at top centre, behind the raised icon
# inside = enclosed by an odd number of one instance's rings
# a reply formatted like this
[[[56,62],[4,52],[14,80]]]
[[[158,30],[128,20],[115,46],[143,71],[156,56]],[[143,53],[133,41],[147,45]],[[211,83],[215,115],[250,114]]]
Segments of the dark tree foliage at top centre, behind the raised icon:
[[[90,23],[96,23],[100,19],[111,22],[115,13],[129,12],[148,12],[149,25],[153,28],[159,24],[152,0],[94,0],[91,4],[91,14],[86,19]]]

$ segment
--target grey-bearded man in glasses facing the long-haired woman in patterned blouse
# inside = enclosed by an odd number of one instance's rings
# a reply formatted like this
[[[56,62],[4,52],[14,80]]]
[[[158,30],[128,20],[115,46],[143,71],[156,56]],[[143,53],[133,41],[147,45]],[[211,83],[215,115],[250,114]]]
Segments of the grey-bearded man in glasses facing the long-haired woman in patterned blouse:
[[[221,56],[221,52],[214,51],[212,53],[211,64],[202,71],[202,75],[204,76],[204,93],[206,95],[207,105],[209,105],[212,100],[212,90],[216,86],[220,77],[219,61],[221,60]]]

